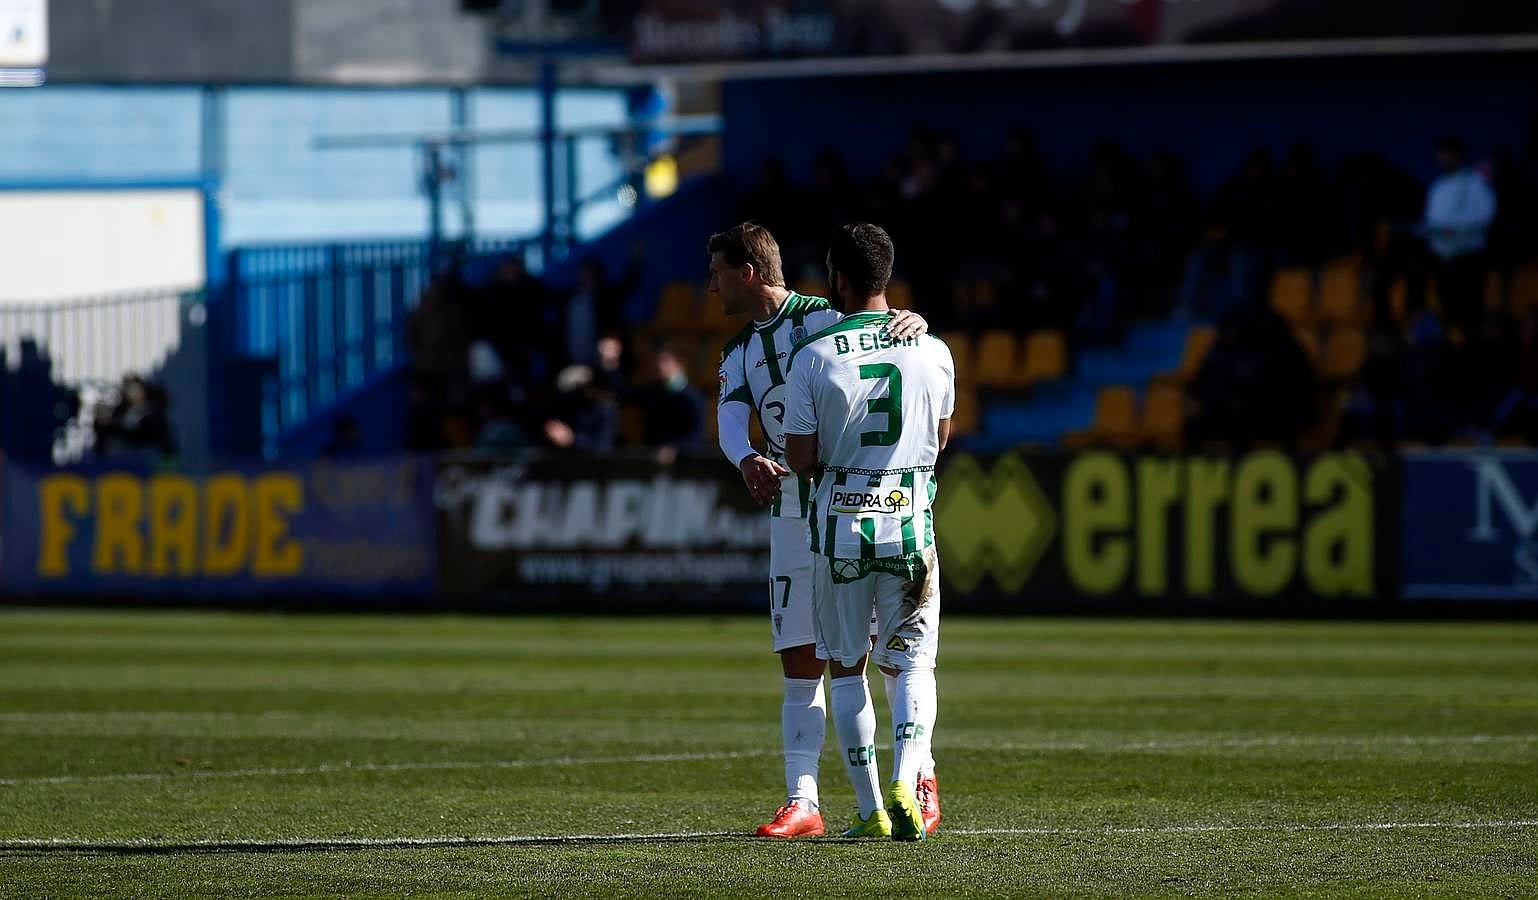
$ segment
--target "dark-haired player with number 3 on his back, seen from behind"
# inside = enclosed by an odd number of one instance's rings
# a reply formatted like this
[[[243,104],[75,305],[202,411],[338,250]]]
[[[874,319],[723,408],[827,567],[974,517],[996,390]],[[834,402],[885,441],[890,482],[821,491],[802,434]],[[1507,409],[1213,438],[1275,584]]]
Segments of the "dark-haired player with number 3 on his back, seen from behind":
[[[883,328],[892,257],[892,238],[875,225],[834,234],[829,292],[849,315],[791,357],[784,440],[791,468],[817,474],[807,512],[817,655],[829,660],[834,725],[860,803],[844,835],[923,840],[940,820],[930,757],[940,643],[932,505],[935,460],[950,438],[955,363],[932,335]],[[897,752],[886,809],[864,680],[872,655],[887,677]]]

